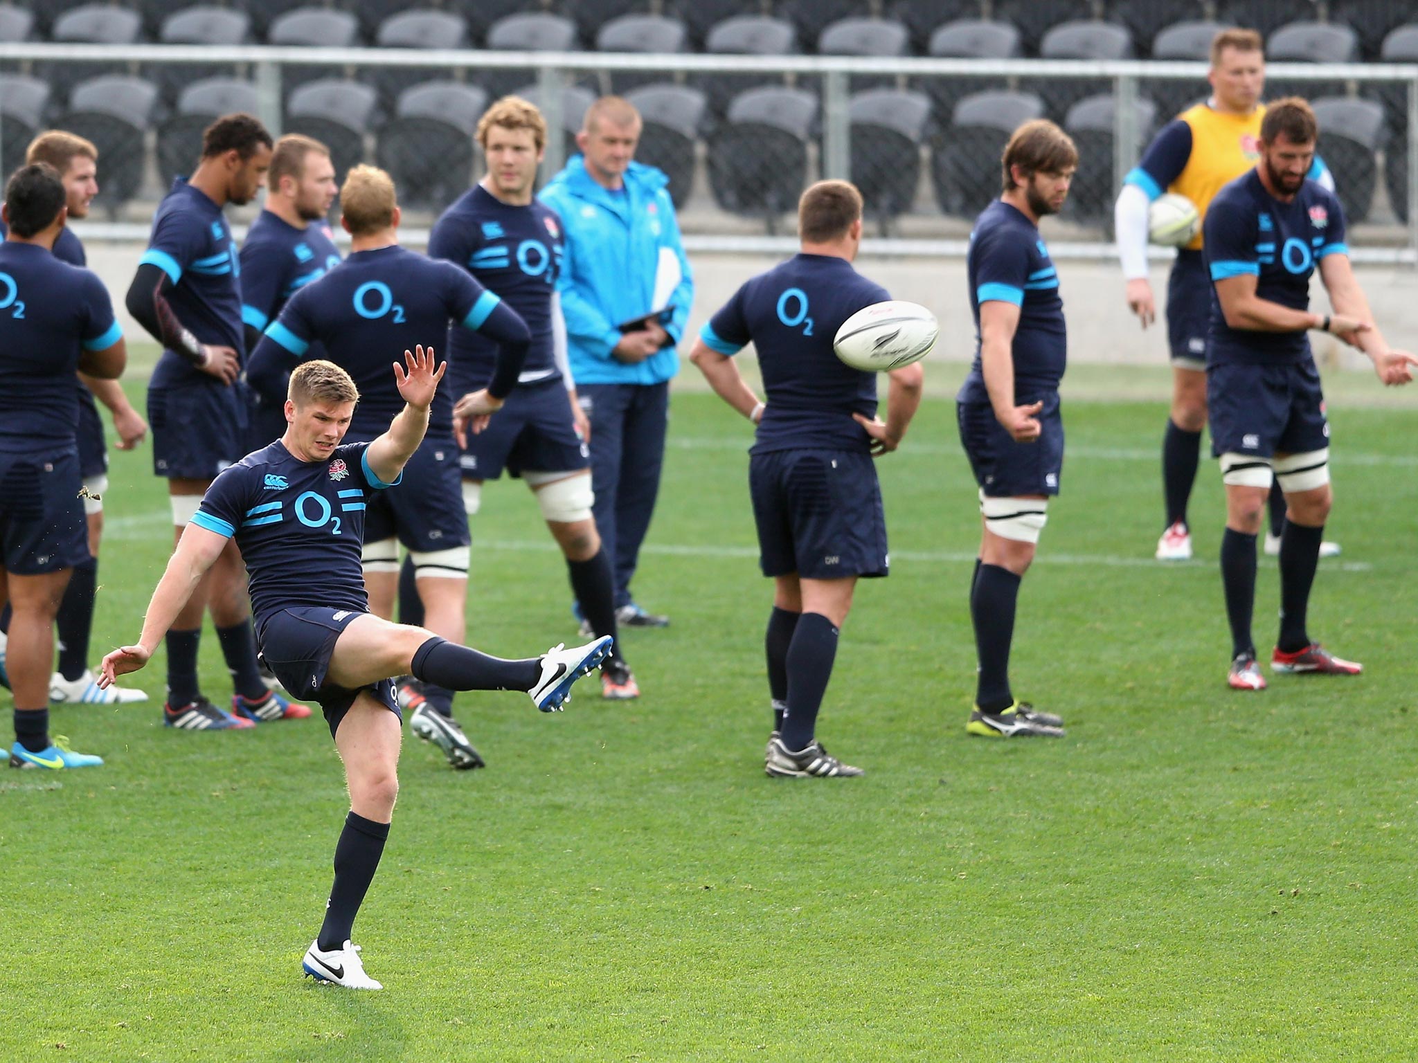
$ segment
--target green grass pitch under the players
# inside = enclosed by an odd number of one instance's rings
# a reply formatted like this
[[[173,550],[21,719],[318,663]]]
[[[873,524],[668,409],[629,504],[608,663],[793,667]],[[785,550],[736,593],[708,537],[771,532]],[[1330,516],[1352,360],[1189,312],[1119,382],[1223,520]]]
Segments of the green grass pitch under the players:
[[[1212,463],[1198,560],[1150,560],[1159,380],[1069,384],[1012,665],[1068,737],[964,734],[978,517],[946,381],[879,465],[892,577],[861,585],[820,720],[868,774],[798,784],[763,775],[747,425],[676,394],[635,584],[674,626],[625,635],[645,696],[588,683],[559,716],[459,696],[486,771],[408,738],[354,928],[381,994],[299,977],[346,809],[319,719],[164,730],[162,653],[136,677],[146,707],[57,709],[108,765],[0,775],[0,1059],[1418,1056],[1411,407],[1370,404],[1371,377],[1332,386],[1344,554],[1320,566],[1312,632],[1366,675],[1234,694]],[[136,636],[169,553],[149,462],[113,454],[95,660]],[[520,485],[489,486],[474,543],[471,642],[574,638]],[[1262,558],[1262,649],[1276,607]],[[203,669],[225,694],[210,628]]]

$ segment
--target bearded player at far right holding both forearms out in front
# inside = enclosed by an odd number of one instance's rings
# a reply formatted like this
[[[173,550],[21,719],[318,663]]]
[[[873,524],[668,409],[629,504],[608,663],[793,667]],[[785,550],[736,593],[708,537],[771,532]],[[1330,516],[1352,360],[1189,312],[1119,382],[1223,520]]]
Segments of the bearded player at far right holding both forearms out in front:
[[[1307,180],[1319,125],[1310,105],[1280,99],[1261,123],[1261,159],[1227,184],[1207,211],[1207,271],[1215,286],[1207,353],[1211,448],[1227,489],[1221,580],[1231,624],[1236,690],[1263,690],[1251,641],[1255,540],[1273,480],[1285,492],[1280,533],[1280,635],[1271,670],[1358,675],[1306,629],[1310,587],[1332,505],[1329,421],[1310,351],[1310,329],[1364,351],[1385,386],[1407,384],[1418,359],[1392,350],[1373,325],[1349,261],[1344,211],[1334,193]],[[1333,313],[1312,313],[1316,268]]]

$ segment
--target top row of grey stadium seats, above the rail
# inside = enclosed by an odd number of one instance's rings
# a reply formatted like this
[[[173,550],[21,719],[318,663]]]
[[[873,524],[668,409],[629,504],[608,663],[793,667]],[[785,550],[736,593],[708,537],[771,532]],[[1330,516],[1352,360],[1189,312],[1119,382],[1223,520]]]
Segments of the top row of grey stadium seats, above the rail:
[[[752,51],[825,55],[974,55],[943,27],[987,21],[998,38],[987,57],[1194,58],[1177,55],[1164,30],[1185,23],[1249,26],[1273,60],[1347,62],[1385,60],[1385,41],[1418,11],[1405,0],[231,0],[177,7],[167,0],[122,6],[78,0],[0,4],[0,40],[126,44],[323,44],[330,47],[486,47],[540,51]],[[319,11],[320,16],[313,13]],[[771,11],[771,16],[770,16]],[[988,13],[988,20],[986,14]],[[1320,17],[1327,21],[1317,21]],[[756,17],[750,47],[715,40],[725,20]],[[842,23],[848,23],[844,26]],[[1066,27],[1066,33],[1059,33]],[[1003,50],[1003,51],[1001,51]],[[1409,57],[1397,57],[1407,61]]]

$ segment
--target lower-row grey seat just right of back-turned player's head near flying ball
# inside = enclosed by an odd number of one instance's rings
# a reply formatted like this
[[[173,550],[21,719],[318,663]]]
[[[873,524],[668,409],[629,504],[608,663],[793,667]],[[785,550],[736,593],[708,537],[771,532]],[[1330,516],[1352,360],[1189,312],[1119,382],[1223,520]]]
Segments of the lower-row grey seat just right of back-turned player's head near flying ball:
[[[848,113],[851,179],[885,234],[891,220],[909,211],[916,198],[930,99],[923,92],[873,89],[854,95]]]

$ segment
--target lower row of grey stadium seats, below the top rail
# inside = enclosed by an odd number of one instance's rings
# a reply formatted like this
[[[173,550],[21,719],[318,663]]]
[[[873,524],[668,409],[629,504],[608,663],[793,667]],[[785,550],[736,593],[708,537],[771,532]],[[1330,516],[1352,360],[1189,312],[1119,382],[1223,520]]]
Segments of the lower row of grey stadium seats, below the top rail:
[[[520,95],[537,102],[536,85]],[[28,139],[47,122],[45,85],[26,77],[0,77],[0,166],[9,170]],[[700,154],[709,189],[723,210],[761,217],[771,228],[791,211],[808,181],[821,139],[820,99],[801,88],[750,88],[732,98],[722,119],[709,111],[705,92],[661,84],[631,91],[645,126],[637,157],[669,176],[676,206],[695,187]],[[576,150],[574,133],[594,95],[569,86],[562,99],[564,150]],[[476,166],[474,136],[489,95],[476,86],[430,81],[404,89],[386,115],[379,95],[353,81],[313,81],[296,89],[286,105],[284,128],[315,136],[330,146],[336,170],[370,160],[389,169],[406,204],[438,210],[461,194]],[[170,116],[159,115],[153,84],[105,77],[75,88],[71,109],[52,125],[89,137],[102,154],[104,193],[99,206],[111,210],[135,198],[149,173],[145,133],[155,133],[156,170],[162,181],[187,173],[201,143],[201,130],[218,115],[257,111],[255,85],[211,78],[187,86]],[[1380,160],[1387,153],[1390,197],[1407,217],[1407,147],[1390,140],[1380,103],[1324,98],[1314,103],[1320,118],[1320,152],[1334,170],[1340,197],[1351,220],[1364,220],[1374,200]],[[869,89],[849,101],[851,179],[862,189],[869,214],[888,227],[912,211],[923,169],[939,208],[973,217],[998,194],[998,157],[1010,133],[1045,113],[1039,94],[974,92],[937,116],[927,95],[913,91]],[[1146,98],[1137,101],[1136,122],[1143,137],[1159,126],[1163,112]],[[1081,169],[1069,214],[1106,224],[1113,198],[1115,101],[1099,94],[1078,99],[1064,125],[1092,160]],[[702,146],[702,152],[700,152]]]

